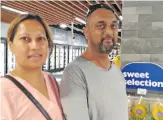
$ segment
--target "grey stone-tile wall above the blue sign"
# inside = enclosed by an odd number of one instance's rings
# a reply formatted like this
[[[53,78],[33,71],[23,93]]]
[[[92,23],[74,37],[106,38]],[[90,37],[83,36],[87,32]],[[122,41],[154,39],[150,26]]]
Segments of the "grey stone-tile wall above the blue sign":
[[[130,62],[152,62],[163,67],[162,11],[162,1],[124,1],[121,67]]]

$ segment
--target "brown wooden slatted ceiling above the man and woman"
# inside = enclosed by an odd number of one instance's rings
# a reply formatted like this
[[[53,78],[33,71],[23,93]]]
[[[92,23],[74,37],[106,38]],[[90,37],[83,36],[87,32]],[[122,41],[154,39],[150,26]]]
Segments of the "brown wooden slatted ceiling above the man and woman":
[[[122,14],[122,1],[100,1],[100,0],[1,0],[1,5],[8,6],[23,12],[39,14],[49,25],[71,24],[73,18],[78,17],[85,20],[88,7],[93,4],[105,3],[111,6],[116,15]],[[1,8],[1,21],[10,23],[18,13]],[[81,24],[74,19],[74,24]]]

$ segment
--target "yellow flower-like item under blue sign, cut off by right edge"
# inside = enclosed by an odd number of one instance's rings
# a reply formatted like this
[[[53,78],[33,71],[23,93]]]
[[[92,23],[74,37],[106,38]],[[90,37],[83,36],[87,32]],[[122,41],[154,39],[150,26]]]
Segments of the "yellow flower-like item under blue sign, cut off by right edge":
[[[163,106],[158,103],[153,104],[152,116],[155,120],[163,120]]]

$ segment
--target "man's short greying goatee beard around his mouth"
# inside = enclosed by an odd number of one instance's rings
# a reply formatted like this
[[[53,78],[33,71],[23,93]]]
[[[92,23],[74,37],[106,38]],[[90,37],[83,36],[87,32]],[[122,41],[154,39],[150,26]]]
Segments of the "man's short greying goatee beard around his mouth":
[[[99,44],[99,50],[101,53],[109,54],[116,45],[115,40],[112,38],[112,43],[109,43],[107,46],[104,45],[104,40],[104,38],[101,39],[101,43]]]

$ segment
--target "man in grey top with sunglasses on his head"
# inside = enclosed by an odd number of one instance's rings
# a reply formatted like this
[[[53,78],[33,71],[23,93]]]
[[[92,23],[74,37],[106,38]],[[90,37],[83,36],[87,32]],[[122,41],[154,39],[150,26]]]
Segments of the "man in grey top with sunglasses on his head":
[[[87,50],[65,68],[60,85],[67,120],[128,120],[125,81],[108,59],[118,36],[113,10],[90,7],[84,34]]]

